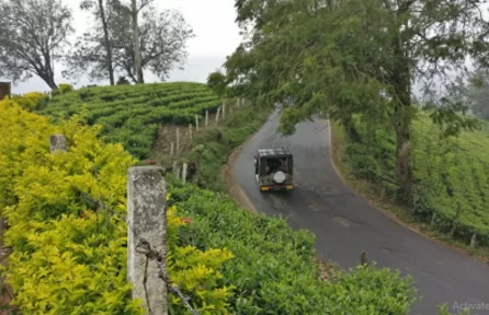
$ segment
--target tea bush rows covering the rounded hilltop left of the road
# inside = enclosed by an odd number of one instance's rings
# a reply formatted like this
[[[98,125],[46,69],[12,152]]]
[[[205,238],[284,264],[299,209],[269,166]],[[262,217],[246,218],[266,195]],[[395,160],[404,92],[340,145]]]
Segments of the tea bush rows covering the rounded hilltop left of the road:
[[[69,92],[69,93],[68,93]],[[102,125],[102,135],[123,143],[137,159],[147,159],[158,127],[187,124],[205,110],[217,110],[217,95],[201,83],[155,83],[83,88],[54,97],[36,113],[68,118],[83,109],[82,121]]]

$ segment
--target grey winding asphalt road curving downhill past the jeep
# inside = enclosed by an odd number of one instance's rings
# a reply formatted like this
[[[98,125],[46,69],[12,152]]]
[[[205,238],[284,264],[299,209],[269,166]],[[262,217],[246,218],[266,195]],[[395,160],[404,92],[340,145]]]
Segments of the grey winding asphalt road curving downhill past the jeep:
[[[329,158],[327,120],[303,122],[295,135],[281,137],[278,119],[277,112],[269,118],[243,147],[232,170],[257,211],[281,214],[293,229],[312,231],[318,256],[326,261],[354,267],[366,250],[368,260],[379,267],[411,275],[422,295],[411,314],[439,314],[436,304],[444,303],[452,312],[455,303],[489,304],[488,266],[401,226],[343,184]],[[253,154],[259,148],[280,147],[294,154],[296,188],[291,194],[262,194],[254,178]],[[489,310],[473,314],[489,314]]]

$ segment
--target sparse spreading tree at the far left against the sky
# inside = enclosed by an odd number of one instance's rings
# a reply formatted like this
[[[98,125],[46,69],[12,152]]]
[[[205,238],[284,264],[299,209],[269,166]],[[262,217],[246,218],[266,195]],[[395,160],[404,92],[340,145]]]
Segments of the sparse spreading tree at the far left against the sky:
[[[60,0],[0,0],[0,77],[14,83],[37,75],[57,89],[54,65],[73,32]]]

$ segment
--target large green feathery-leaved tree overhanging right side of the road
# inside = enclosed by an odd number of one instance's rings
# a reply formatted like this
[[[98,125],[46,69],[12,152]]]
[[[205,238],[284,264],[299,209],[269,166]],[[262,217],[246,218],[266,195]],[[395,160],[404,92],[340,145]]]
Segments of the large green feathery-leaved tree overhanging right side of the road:
[[[354,113],[384,115],[396,132],[399,197],[410,203],[412,84],[436,96],[439,110],[455,110],[432,82],[450,91],[467,57],[487,65],[482,2],[237,0],[248,38],[226,62],[228,81],[246,75],[251,96],[284,104],[285,133],[320,110],[345,125]]]

